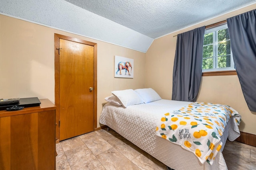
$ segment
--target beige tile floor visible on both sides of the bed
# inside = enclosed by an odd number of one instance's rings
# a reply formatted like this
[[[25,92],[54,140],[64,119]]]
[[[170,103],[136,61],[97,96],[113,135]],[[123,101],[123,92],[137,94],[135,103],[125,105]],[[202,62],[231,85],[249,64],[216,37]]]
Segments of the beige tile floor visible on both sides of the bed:
[[[56,144],[56,170],[166,170],[166,166],[113,130],[102,129]],[[227,141],[229,170],[256,170],[256,147]]]

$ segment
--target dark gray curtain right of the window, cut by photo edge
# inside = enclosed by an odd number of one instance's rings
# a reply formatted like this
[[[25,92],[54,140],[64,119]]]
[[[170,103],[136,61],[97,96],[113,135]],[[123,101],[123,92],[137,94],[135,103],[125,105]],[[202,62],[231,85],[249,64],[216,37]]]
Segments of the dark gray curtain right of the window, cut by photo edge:
[[[236,72],[250,111],[256,111],[256,10],[227,19]]]

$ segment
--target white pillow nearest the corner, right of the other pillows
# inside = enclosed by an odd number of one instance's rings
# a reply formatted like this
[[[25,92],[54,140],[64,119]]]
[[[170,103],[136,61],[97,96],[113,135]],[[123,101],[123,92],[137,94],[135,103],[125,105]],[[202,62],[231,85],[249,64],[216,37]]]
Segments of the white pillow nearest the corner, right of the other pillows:
[[[140,89],[136,89],[134,91],[140,95],[140,97],[142,98],[144,103],[154,102],[156,100],[162,99],[157,94],[157,92],[155,90],[153,90],[152,88],[140,88]]]

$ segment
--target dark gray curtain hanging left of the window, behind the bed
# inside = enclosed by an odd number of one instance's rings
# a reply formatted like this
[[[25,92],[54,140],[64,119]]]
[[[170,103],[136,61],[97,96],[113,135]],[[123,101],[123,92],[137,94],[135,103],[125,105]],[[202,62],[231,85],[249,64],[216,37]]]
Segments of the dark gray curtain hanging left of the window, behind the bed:
[[[172,100],[196,101],[202,77],[204,29],[200,27],[177,35]]]

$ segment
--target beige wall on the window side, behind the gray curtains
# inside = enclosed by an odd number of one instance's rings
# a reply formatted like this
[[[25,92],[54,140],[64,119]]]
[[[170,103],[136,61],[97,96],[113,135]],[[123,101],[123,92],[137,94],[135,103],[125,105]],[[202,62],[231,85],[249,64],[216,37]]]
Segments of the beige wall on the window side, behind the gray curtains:
[[[256,9],[256,4],[155,39],[146,53],[146,87],[154,88],[164,99],[171,99],[172,72],[177,39],[177,37],[173,37],[174,35],[254,9]],[[242,115],[240,131],[256,134],[256,112],[251,112],[248,109],[237,76],[202,77],[197,101],[220,103],[233,107]]]

